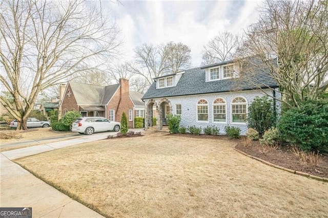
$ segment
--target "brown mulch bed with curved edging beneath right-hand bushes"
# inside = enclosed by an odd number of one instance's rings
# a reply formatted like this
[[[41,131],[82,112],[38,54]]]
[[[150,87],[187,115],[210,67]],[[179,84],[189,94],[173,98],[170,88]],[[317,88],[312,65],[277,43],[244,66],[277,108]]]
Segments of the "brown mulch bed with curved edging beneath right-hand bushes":
[[[290,145],[280,145],[276,150],[270,150],[266,154],[263,152],[263,148],[258,141],[254,141],[254,144],[251,146],[244,146],[242,142],[239,142],[235,148],[278,166],[328,178],[328,156],[326,155],[320,155],[321,161],[319,166],[310,166],[302,163],[293,154],[292,146]]]

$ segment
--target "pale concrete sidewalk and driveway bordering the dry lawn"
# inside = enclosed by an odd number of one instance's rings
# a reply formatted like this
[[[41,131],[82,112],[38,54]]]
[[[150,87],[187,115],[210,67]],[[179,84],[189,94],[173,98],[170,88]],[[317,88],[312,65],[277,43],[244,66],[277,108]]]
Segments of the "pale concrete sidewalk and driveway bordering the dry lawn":
[[[140,132],[142,130],[135,129],[135,131]],[[116,133],[106,132],[2,152],[0,154],[0,207],[32,207],[32,217],[103,217],[37,179],[11,160],[80,143],[106,139],[108,135],[116,135]]]

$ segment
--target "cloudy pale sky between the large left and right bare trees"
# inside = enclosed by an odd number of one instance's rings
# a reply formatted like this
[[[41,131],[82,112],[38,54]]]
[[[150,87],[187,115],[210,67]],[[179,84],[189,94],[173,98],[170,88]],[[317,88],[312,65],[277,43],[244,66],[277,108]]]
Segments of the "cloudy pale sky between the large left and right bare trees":
[[[194,67],[201,50],[218,32],[242,33],[255,23],[260,1],[120,1],[103,0],[124,38],[122,60],[131,60],[142,43],[182,42],[191,48]]]

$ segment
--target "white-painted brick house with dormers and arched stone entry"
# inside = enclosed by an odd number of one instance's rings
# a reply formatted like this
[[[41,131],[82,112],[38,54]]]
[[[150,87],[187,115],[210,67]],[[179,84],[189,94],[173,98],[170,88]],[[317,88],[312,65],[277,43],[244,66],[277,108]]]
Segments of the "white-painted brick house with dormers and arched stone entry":
[[[172,113],[181,116],[180,125],[185,127],[195,125],[203,129],[215,125],[224,134],[224,127],[231,125],[239,127],[244,135],[248,107],[253,99],[264,95],[263,92],[275,98],[281,95],[277,82],[266,70],[257,69],[246,78],[240,77],[240,66],[240,62],[226,61],[154,78],[142,97],[146,105],[146,127],[156,117],[157,128],[161,129],[167,124],[167,114]],[[275,98],[274,108],[279,110]]]

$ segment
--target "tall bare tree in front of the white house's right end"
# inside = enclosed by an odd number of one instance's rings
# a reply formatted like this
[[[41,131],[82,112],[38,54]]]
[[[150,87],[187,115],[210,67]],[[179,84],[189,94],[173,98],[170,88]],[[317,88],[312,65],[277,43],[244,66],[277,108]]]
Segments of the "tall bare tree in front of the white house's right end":
[[[239,51],[242,57],[256,54],[260,59],[251,61],[248,74],[265,68],[290,106],[317,99],[327,88],[322,85],[328,71],[327,25],[325,1],[267,0]]]

